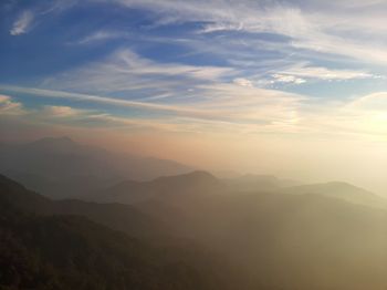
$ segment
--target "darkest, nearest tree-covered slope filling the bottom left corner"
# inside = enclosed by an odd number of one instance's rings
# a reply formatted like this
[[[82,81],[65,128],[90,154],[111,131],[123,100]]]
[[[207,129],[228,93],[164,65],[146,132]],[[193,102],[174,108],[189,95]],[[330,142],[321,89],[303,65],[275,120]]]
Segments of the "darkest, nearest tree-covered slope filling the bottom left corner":
[[[243,289],[209,252],[150,246],[82,216],[24,210],[34,206],[45,210],[50,199],[0,176],[0,289]]]

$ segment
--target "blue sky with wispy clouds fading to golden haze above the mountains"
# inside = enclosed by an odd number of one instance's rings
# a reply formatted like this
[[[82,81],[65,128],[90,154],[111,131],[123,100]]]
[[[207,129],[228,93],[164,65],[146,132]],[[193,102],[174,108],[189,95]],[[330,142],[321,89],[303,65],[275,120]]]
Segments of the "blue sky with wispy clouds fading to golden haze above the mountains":
[[[2,141],[386,193],[386,0],[2,0]]]

